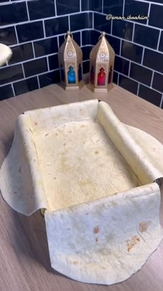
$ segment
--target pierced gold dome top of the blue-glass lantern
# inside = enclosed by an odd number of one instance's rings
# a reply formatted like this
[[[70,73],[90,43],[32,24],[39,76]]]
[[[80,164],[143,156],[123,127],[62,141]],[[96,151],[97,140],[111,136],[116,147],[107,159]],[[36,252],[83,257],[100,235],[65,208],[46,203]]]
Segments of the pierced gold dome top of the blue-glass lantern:
[[[69,30],[64,35],[64,39],[64,43],[59,48],[59,56],[64,58],[64,61],[75,61],[77,58],[82,58],[81,48],[77,45]]]

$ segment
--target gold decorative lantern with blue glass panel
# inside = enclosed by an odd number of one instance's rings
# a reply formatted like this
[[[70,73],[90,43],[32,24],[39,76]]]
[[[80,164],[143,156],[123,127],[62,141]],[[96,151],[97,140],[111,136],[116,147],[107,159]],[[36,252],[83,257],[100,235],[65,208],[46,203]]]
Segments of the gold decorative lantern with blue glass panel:
[[[79,89],[82,80],[83,54],[70,31],[67,31],[64,39],[58,52],[61,84],[66,90],[76,90]]]

